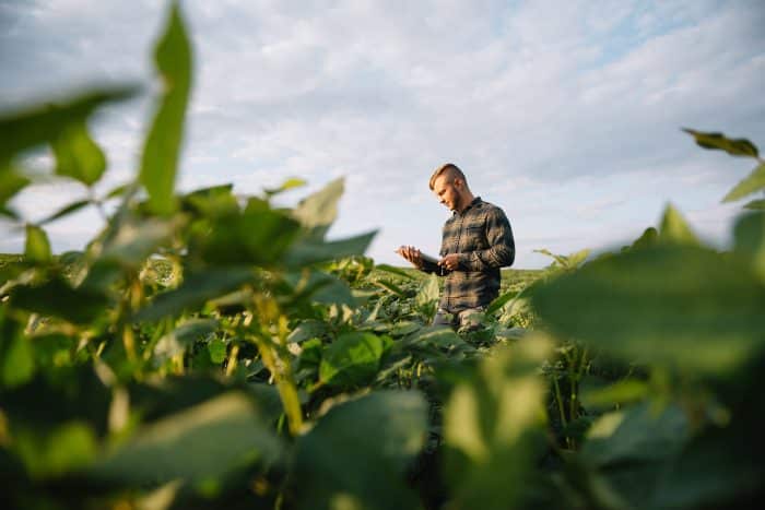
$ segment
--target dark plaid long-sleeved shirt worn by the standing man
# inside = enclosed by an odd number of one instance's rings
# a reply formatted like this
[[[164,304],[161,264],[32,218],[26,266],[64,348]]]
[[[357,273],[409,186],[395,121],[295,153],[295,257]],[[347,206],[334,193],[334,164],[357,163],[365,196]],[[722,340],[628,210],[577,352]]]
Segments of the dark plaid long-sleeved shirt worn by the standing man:
[[[440,256],[459,253],[459,268],[442,273],[439,266],[423,270],[446,274],[438,306],[450,313],[483,307],[499,295],[499,268],[515,260],[510,222],[502,209],[478,197],[444,224]]]

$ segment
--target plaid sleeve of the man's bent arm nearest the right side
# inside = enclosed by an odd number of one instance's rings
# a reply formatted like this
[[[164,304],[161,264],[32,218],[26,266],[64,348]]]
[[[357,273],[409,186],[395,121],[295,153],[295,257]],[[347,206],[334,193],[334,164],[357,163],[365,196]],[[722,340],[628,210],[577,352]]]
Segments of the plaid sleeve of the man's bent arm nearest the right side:
[[[486,214],[485,229],[489,248],[460,253],[460,265],[466,271],[504,268],[513,265],[515,261],[516,245],[513,239],[513,229],[510,222],[499,207],[492,209]]]

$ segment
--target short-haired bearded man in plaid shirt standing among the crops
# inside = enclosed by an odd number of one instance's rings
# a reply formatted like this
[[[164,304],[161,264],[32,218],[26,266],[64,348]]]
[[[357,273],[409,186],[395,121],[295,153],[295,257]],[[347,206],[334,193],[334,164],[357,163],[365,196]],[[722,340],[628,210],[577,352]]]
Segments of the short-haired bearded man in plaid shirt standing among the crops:
[[[510,223],[502,209],[473,195],[464,174],[452,163],[436,168],[429,187],[452,211],[444,224],[442,258],[428,260],[412,246],[397,252],[421,271],[446,276],[433,324],[473,329],[479,325],[474,315],[499,295],[499,268],[515,260]]]

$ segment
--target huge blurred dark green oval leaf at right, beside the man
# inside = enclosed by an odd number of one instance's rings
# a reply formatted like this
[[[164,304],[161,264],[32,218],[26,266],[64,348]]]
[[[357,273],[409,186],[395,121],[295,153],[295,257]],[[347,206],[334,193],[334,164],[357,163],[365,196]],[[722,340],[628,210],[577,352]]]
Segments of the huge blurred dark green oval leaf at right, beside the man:
[[[540,284],[531,300],[564,337],[693,377],[734,375],[765,331],[762,281],[739,258],[698,247],[601,259]]]

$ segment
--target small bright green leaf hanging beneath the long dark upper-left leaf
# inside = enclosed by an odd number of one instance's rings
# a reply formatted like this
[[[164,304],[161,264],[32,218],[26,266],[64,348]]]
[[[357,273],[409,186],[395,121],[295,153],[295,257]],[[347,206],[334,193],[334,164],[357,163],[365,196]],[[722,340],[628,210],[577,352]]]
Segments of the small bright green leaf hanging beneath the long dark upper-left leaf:
[[[52,140],[56,175],[93,186],[106,169],[106,156],[91,139],[84,120],[67,126]]]

